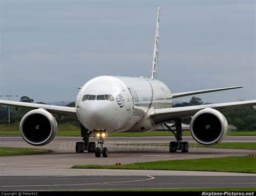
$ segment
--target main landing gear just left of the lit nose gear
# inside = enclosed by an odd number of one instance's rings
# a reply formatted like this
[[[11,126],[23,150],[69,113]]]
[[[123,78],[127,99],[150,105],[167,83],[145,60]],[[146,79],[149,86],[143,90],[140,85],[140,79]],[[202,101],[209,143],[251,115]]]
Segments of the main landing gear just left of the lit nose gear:
[[[92,134],[92,131],[86,129],[82,124],[80,124],[81,137],[83,137],[84,142],[76,143],[76,153],[82,153],[85,150],[88,152],[95,152],[96,143],[89,142],[89,137]]]

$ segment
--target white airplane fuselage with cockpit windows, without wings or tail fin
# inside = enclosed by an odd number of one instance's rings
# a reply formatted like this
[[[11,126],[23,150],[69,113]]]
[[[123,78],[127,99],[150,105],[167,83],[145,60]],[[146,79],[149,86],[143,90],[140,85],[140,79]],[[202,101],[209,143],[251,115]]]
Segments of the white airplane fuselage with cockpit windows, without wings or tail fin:
[[[76,111],[80,123],[91,131],[147,131],[156,128],[150,112],[172,107],[171,96],[170,89],[159,80],[99,76],[80,89]]]

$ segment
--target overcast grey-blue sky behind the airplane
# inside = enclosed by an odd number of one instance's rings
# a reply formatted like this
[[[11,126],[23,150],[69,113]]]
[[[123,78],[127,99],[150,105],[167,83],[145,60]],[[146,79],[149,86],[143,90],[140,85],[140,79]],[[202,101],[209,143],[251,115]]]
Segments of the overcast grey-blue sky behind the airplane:
[[[159,80],[172,93],[241,85],[198,96],[256,97],[255,1],[0,2],[0,95],[72,101],[99,75],[149,77],[160,6]]]

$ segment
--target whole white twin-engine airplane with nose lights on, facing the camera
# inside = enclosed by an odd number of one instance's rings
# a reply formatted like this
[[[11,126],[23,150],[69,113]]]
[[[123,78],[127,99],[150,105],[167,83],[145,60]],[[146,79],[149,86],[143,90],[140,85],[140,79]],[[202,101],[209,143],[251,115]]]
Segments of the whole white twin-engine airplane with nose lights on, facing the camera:
[[[173,99],[189,95],[242,88],[227,87],[171,93],[169,87],[158,80],[159,16],[157,12],[151,78],[124,76],[98,76],[87,81],[76,99],[75,107],[0,100],[2,106],[30,109],[22,118],[19,130],[23,139],[35,146],[50,143],[57,133],[56,118],[75,118],[80,122],[83,142],[76,143],[76,152],[94,152],[96,157],[108,156],[103,147],[109,132],[142,132],[165,125],[176,141],[170,142],[169,152],[188,152],[183,142],[181,120],[192,117],[190,131],[194,140],[203,145],[221,142],[227,134],[228,124],[219,110],[255,106],[256,100],[172,108]],[[168,122],[174,121],[169,127]],[[172,129],[175,127],[175,130]],[[99,147],[89,137],[98,137]]]

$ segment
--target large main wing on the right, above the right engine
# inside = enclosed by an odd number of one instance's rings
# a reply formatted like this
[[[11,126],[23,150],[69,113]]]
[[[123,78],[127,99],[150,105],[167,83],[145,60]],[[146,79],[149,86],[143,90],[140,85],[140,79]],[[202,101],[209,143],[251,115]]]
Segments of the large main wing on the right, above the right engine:
[[[168,122],[177,118],[191,117],[201,109],[205,109],[205,108],[224,110],[224,109],[235,109],[235,108],[255,106],[255,105],[256,105],[256,100],[251,100],[251,101],[238,101],[238,102],[229,102],[229,103],[206,104],[206,105],[199,105],[199,106],[154,109],[151,112],[150,117],[152,118],[155,124],[160,124],[160,123]]]

